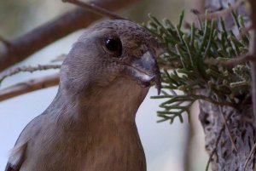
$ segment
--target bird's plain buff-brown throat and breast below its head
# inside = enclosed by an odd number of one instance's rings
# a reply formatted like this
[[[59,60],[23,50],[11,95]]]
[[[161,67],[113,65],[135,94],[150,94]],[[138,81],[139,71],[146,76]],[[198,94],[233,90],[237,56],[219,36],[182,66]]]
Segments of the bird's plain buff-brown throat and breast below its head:
[[[47,145],[53,152],[44,160],[61,157],[54,161],[60,165],[58,170],[146,171],[135,116],[147,93],[148,88],[120,80],[69,104],[69,113],[56,119],[55,129],[61,133],[59,138],[52,134],[55,144]]]

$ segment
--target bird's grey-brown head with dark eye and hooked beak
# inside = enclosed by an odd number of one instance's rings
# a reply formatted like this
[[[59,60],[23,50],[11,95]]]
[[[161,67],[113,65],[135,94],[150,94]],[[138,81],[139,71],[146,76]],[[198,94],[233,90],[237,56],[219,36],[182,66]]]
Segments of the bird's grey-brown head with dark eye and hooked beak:
[[[142,88],[154,82],[160,92],[158,50],[154,37],[134,22],[100,22],[73,45],[61,67],[61,83],[81,93],[90,85],[108,86],[125,77]]]

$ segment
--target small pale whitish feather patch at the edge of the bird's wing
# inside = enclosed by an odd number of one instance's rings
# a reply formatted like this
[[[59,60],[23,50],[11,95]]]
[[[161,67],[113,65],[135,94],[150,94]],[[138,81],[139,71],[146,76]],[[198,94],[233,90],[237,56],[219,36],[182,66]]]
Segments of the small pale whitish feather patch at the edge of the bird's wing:
[[[25,160],[26,143],[15,145],[15,148],[11,151],[9,156],[9,162],[5,168],[5,171],[19,171],[22,163]]]

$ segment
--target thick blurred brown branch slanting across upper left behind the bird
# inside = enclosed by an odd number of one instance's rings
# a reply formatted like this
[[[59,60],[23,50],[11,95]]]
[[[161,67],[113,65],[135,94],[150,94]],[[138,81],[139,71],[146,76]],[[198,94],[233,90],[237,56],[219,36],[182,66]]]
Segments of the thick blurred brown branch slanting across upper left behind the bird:
[[[95,0],[91,3],[103,9],[115,11],[137,1],[138,0]],[[100,18],[101,16],[93,14],[88,10],[81,8],[73,9],[66,14],[62,14],[55,20],[51,20],[14,40],[10,40],[10,46],[6,44],[0,46],[0,71],[3,71],[21,60],[25,60],[29,55],[44,48],[49,43],[53,43],[73,31],[78,31],[79,29],[89,26],[93,21]]]

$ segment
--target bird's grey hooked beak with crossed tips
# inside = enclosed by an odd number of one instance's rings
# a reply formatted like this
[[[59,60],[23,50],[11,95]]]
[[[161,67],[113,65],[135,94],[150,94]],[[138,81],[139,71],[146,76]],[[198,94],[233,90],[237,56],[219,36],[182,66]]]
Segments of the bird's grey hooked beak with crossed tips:
[[[160,69],[155,59],[155,55],[149,51],[141,57],[132,57],[125,71],[143,87],[148,87],[154,82],[160,94]]]

